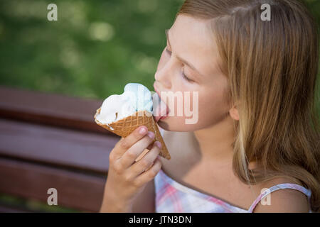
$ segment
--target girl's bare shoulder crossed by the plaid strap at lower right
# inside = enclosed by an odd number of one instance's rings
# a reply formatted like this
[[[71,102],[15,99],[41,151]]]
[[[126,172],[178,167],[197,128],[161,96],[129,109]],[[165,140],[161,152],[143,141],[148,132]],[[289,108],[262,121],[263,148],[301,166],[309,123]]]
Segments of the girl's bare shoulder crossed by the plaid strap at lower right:
[[[264,189],[277,184],[297,184],[290,179],[278,178],[264,184]],[[266,187],[267,186],[267,187]],[[267,196],[266,196],[267,197]],[[305,213],[309,212],[307,196],[296,189],[279,189],[262,199],[253,212],[255,213]],[[269,202],[268,202],[269,199]]]

